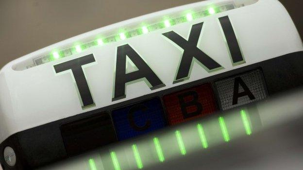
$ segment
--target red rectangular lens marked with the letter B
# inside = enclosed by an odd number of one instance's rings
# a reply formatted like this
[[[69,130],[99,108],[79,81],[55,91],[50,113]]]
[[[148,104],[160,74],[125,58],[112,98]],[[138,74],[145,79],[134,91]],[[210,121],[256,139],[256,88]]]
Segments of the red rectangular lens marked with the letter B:
[[[169,125],[203,117],[217,110],[210,83],[167,94],[163,101]]]

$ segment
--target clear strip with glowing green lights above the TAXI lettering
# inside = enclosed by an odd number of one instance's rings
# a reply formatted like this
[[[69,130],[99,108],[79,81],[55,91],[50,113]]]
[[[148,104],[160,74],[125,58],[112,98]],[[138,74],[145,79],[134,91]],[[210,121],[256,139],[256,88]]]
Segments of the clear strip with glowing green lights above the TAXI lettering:
[[[241,6],[239,6],[239,7],[241,7]],[[34,59],[34,64],[28,65],[27,68],[31,68],[36,65],[51,62],[54,60],[59,60],[64,57],[71,56],[73,54],[77,54],[92,46],[102,46],[102,45],[105,45],[108,43],[125,40],[127,38],[146,34],[151,31],[157,31],[157,30],[160,30],[163,28],[181,24],[181,23],[191,21],[194,19],[199,19],[199,18],[208,16],[208,15],[214,15],[214,14],[217,14],[220,12],[229,11],[229,10],[232,10],[235,8],[237,8],[237,7],[235,6],[234,3],[229,3],[229,4],[225,4],[225,5],[221,5],[221,6],[219,6],[219,5],[212,6],[212,7],[209,7],[208,9],[205,9],[202,11],[191,12],[191,13],[187,13],[186,15],[183,15],[180,17],[166,19],[164,21],[162,20],[159,23],[155,23],[155,24],[148,25],[148,26],[138,27],[135,30],[119,32],[116,35],[112,35],[112,36],[105,37],[105,38],[98,38],[98,39],[95,39],[93,41],[90,41],[90,42],[87,42],[84,44],[77,44],[77,45],[69,47],[67,49],[63,49],[63,50],[54,49],[50,54]]]

